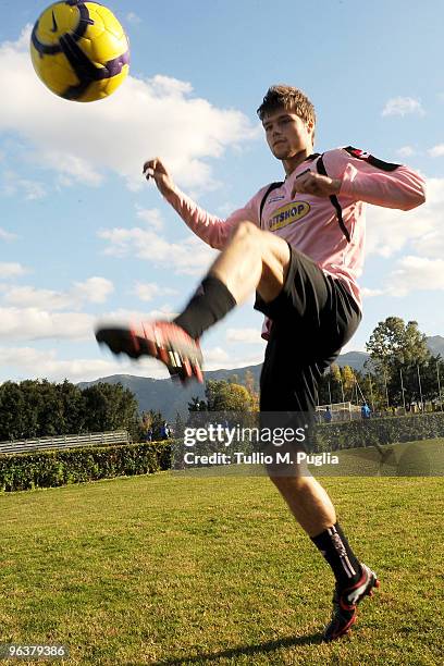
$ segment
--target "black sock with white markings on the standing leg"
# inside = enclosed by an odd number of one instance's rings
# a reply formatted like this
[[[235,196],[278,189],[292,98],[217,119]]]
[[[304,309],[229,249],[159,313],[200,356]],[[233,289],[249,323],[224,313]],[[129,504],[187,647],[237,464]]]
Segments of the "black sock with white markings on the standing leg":
[[[349,588],[358,582],[362,569],[338,522],[318,536],[311,536],[311,541],[332,567],[340,588]]]

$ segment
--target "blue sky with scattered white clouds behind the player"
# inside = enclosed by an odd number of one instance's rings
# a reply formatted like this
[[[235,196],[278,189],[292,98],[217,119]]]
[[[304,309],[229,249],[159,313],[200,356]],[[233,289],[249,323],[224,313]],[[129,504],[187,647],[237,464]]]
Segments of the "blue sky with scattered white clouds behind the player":
[[[0,7],[0,381],[165,377],[156,361],[114,360],[92,334],[102,318],[178,311],[214,256],[141,164],[163,157],[225,217],[282,176],[256,116],[282,82],[313,101],[318,151],[353,145],[428,178],[415,211],[368,208],[363,321],[346,350],[391,314],[444,335],[441,1],[111,0],[131,76],[89,104],[34,74],[29,30],[46,3]],[[251,301],[230,314],[203,337],[206,367],[260,362],[260,325]]]

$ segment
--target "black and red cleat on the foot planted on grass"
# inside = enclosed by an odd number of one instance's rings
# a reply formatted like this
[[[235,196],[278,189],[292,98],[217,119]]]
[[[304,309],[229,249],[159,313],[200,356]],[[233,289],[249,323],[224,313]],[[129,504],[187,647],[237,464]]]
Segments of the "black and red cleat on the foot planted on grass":
[[[373,588],[380,587],[377,575],[361,564],[362,576],[350,588],[340,590],[337,584],[333,594],[332,619],[324,629],[323,640],[334,641],[348,633],[356,621],[356,606],[365,596],[373,596]]]

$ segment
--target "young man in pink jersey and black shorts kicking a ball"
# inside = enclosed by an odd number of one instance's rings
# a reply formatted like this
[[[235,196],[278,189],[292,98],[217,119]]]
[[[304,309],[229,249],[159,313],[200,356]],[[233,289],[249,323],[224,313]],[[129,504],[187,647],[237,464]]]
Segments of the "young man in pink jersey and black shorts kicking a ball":
[[[268,340],[260,409],[312,412],[321,374],[361,319],[365,202],[409,210],[424,201],[423,181],[351,147],[313,153],[314,109],[297,88],[271,87],[258,114],[285,181],[261,188],[227,220],[180,192],[160,159],[145,163],[147,178],[186,224],[222,251],[173,322],[100,328],[96,337],[115,354],[159,358],[182,381],[202,381],[199,337],[256,291]],[[269,474],[333,570],[333,615],[324,639],[336,639],[378,587],[377,575],[357,559],[330,497],[311,476]]]

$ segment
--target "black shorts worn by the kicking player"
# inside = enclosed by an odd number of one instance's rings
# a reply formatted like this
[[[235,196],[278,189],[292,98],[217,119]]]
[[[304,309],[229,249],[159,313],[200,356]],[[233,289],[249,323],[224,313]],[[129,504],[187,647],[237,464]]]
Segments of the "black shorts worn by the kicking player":
[[[279,296],[255,309],[272,320],[260,378],[261,411],[312,411],[323,372],[350,340],[362,318],[344,284],[325,275],[298,250]]]

